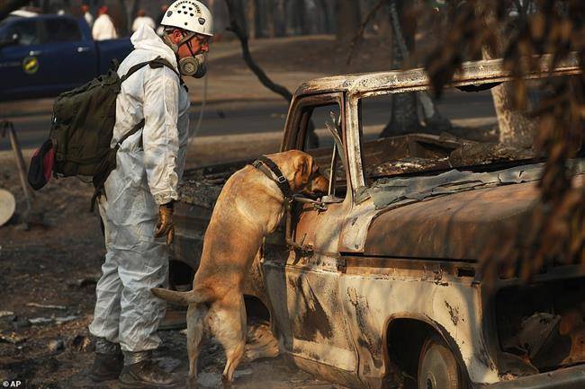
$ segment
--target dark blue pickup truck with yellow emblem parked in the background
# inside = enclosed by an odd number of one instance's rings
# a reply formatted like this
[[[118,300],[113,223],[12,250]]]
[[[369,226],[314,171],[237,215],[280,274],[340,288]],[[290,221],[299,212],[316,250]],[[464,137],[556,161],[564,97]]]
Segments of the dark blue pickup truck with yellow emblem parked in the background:
[[[0,102],[52,97],[106,73],[129,38],[92,38],[84,19],[45,14],[0,21]]]

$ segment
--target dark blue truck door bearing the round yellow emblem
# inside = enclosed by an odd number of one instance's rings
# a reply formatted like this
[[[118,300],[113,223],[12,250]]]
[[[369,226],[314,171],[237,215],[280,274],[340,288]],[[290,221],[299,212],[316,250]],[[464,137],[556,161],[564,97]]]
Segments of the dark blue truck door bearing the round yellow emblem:
[[[43,83],[38,57],[42,49],[40,22],[36,18],[18,19],[9,22],[1,35],[4,47],[0,48],[0,100],[22,97]]]

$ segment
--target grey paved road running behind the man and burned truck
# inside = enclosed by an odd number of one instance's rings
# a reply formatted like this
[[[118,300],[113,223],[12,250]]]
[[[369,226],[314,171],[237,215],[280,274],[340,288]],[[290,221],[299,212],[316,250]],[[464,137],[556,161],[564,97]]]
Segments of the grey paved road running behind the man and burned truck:
[[[26,102],[31,104],[34,102]],[[439,110],[449,119],[490,118],[495,115],[491,103],[491,94],[483,93],[449,93],[438,104]],[[29,107],[30,108],[30,107]],[[286,119],[287,104],[274,102],[238,102],[208,104],[197,137],[229,136],[247,133],[281,131]],[[367,101],[363,105],[365,125],[380,125],[389,119],[390,103],[388,98]],[[39,146],[49,136],[50,113],[36,112],[18,114],[11,112],[19,141],[23,148]],[[193,105],[191,128],[196,128],[200,115],[200,106]],[[326,112],[322,111],[316,118],[317,127],[322,127]],[[196,142],[196,139],[195,139]],[[0,151],[10,149],[7,138],[0,138]]]

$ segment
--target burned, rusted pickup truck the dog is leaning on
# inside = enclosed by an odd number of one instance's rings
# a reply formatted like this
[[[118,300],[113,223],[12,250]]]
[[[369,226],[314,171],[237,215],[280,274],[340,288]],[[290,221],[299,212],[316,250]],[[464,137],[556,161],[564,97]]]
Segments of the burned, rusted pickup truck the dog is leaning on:
[[[574,76],[569,61],[539,78]],[[510,81],[499,60],[468,63],[454,88]],[[266,239],[247,282],[247,314],[270,322],[302,369],[354,388],[585,387],[585,272],[543,269],[529,283],[486,287],[491,236],[535,207],[542,161],[502,155],[470,164],[462,150],[494,140],[490,91],[446,93],[462,136],[384,136],[392,99],[424,93],[421,69],[345,75],[297,90],[281,150],[313,155],[327,196],[299,198]],[[537,96],[536,96],[537,98]],[[320,148],[308,141],[311,122]],[[497,134],[496,134],[497,137]],[[489,145],[489,144],[487,144]],[[489,147],[487,147],[489,149]],[[572,161],[582,186],[585,159]],[[462,163],[462,161],[466,161]],[[171,283],[191,282],[214,199],[249,162],[187,171],[175,208]]]

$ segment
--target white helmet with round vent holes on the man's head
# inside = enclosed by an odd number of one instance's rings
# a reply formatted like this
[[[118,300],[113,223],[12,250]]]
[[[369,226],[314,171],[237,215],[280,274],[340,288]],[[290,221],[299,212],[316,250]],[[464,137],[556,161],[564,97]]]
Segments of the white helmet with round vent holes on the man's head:
[[[209,8],[197,0],[176,0],[168,7],[160,24],[213,36],[213,16]]]

